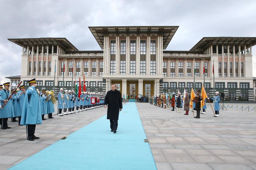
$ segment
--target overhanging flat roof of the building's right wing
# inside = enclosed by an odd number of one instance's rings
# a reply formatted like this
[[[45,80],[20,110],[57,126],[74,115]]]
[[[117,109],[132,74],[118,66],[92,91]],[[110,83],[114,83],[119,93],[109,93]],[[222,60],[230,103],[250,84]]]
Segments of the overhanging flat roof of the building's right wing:
[[[195,51],[197,49],[205,49],[209,44],[235,44],[240,43],[241,47],[244,47],[244,44],[251,44],[254,46],[256,44],[256,37],[203,37],[197,44],[190,49],[190,51]]]

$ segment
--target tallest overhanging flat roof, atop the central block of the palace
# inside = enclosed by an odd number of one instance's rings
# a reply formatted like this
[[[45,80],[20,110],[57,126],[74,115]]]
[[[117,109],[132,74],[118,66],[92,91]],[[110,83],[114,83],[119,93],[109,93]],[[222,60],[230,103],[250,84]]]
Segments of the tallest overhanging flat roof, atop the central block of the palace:
[[[163,36],[163,49],[166,49],[179,26],[97,26],[88,27],[94,38],[104,48],[104,35],[119,36]]]

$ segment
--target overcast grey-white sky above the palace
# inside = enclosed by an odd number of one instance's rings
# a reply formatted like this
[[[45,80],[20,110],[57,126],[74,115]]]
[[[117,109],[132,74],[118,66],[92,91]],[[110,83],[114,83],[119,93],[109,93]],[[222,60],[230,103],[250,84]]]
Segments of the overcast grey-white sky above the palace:
[[[88,26],[178,25],[166,50],[190,50],[202,37],[256,37],[255,9],[255,0],[2,0],[0,83],[20,75],[22,47],[8,38],[66,37],[79,50],[101,50]]]

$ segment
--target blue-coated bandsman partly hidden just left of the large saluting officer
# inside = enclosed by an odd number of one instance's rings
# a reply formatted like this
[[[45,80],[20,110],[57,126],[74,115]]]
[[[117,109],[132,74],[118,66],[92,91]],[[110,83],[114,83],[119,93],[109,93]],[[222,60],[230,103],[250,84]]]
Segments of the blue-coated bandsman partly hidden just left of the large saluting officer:
[[[20,88],[20,90],[16,94],[16,100],[18,101],[17,113],[14,113],[14,116],[18,117],[18,121],[19,121],[19,125],[20,125],[20,118],[21,118],[21,114],[22,114],[24,101],[25,101],[25,94],[26,94],[25,90],[26,89],[25,89],[24,84],[21,85],[19,88]]]

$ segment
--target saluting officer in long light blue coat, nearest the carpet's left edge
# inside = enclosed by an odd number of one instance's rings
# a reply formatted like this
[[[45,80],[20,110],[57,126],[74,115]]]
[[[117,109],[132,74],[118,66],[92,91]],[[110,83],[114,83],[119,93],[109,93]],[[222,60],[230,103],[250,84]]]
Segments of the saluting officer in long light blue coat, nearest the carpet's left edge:
[[[20,124],[26,125],[27,140],[34,141],[34,139],[39,139],[39,137],[35,136],[35,129],[36,124],[42,124],[41,107],[36,90],[36,79],[30,80],[28,83],[30,87],[25,95]]]

